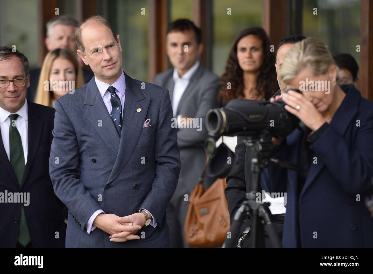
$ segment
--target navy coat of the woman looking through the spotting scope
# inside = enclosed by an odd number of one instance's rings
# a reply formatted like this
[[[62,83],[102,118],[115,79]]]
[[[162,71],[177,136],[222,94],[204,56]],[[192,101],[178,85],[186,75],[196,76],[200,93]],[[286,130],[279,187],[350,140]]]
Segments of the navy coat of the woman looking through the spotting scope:
[[[268,192],[287,192],[285,248],[372,248],[373,218],[364,198],[373,192],[373,102],[353,85],[327,129],[310,144],[317,157],[298,195],[297,171],[270,163],[261,176]],[[298,163],[296,129],[273,158]],[[298,243],[300,241],[300,244]]]

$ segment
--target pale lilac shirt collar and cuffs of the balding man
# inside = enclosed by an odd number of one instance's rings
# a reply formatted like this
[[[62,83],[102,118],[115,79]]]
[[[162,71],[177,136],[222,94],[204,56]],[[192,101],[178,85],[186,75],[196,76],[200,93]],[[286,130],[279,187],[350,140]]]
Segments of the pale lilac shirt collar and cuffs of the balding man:
[[[107,108],[107,111],[109,111],[109,114],[112,112],[112,104],[110,103],[110,92],[107,91],[107,88],[109,86],[113,86],[115,88],[115,93],[120,98],[120,103],[122,104],[122,116],[123,116],[123,110],[124,110],[124,101],[125,101],[125,94],[126,94],[126,78],[124,76],[124,72],[122,70],[122,74],[119,76],[119,78],[112,84],[107,84],[103,81],[100,81],[94,76],[94,80],[96,82],[98,92],[100,92],[100,95],[102,97],[102,100],[104,101],[104,104]],[[144,208],[140,208],[140,211]],[[148,211],[148,210],[147,210]],[[150,211],[148,211],[150,213]],[[99,209],[96,210],[88,220],[85,227],[87,228],[88,234],[91,233],[96,227],[93,225],[94,219],[97,217],[98,214],[105,213],[103,210]],[[151,213],[150,213],[151,215]],[[122,217],[122,216],[119,216]],[[157,226],[157,221],[154,219],[153,215],[151,215],[151,222],[150,225],[154,228]]]

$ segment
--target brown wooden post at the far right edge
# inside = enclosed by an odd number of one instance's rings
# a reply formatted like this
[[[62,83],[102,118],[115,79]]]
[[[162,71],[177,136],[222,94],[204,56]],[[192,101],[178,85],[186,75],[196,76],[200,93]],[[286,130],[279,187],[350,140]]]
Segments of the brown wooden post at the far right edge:
[[[359,89],[361,96],[373,100],[373,2],[361,0]]]

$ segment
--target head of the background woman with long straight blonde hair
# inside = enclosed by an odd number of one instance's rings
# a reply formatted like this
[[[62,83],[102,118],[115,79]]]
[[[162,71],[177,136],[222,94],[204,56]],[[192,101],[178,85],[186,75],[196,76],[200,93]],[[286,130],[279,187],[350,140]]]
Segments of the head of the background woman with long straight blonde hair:
[[[83,85],[83,73],[76,55],[68,48],[57,48],[44,59],[35,103],[54,107],[55,100]]]

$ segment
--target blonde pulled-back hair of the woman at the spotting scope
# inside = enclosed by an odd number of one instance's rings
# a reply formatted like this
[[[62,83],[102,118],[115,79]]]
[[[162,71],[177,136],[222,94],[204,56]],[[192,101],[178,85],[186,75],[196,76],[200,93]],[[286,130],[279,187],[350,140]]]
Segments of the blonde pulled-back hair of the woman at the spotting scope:
[[[280,69],[280,80],[285,84],[294,79],[310,65],[314,75],[325,74],[335,64],[330,51],[323,42],[307,38],[294,44],[285,54]]]

